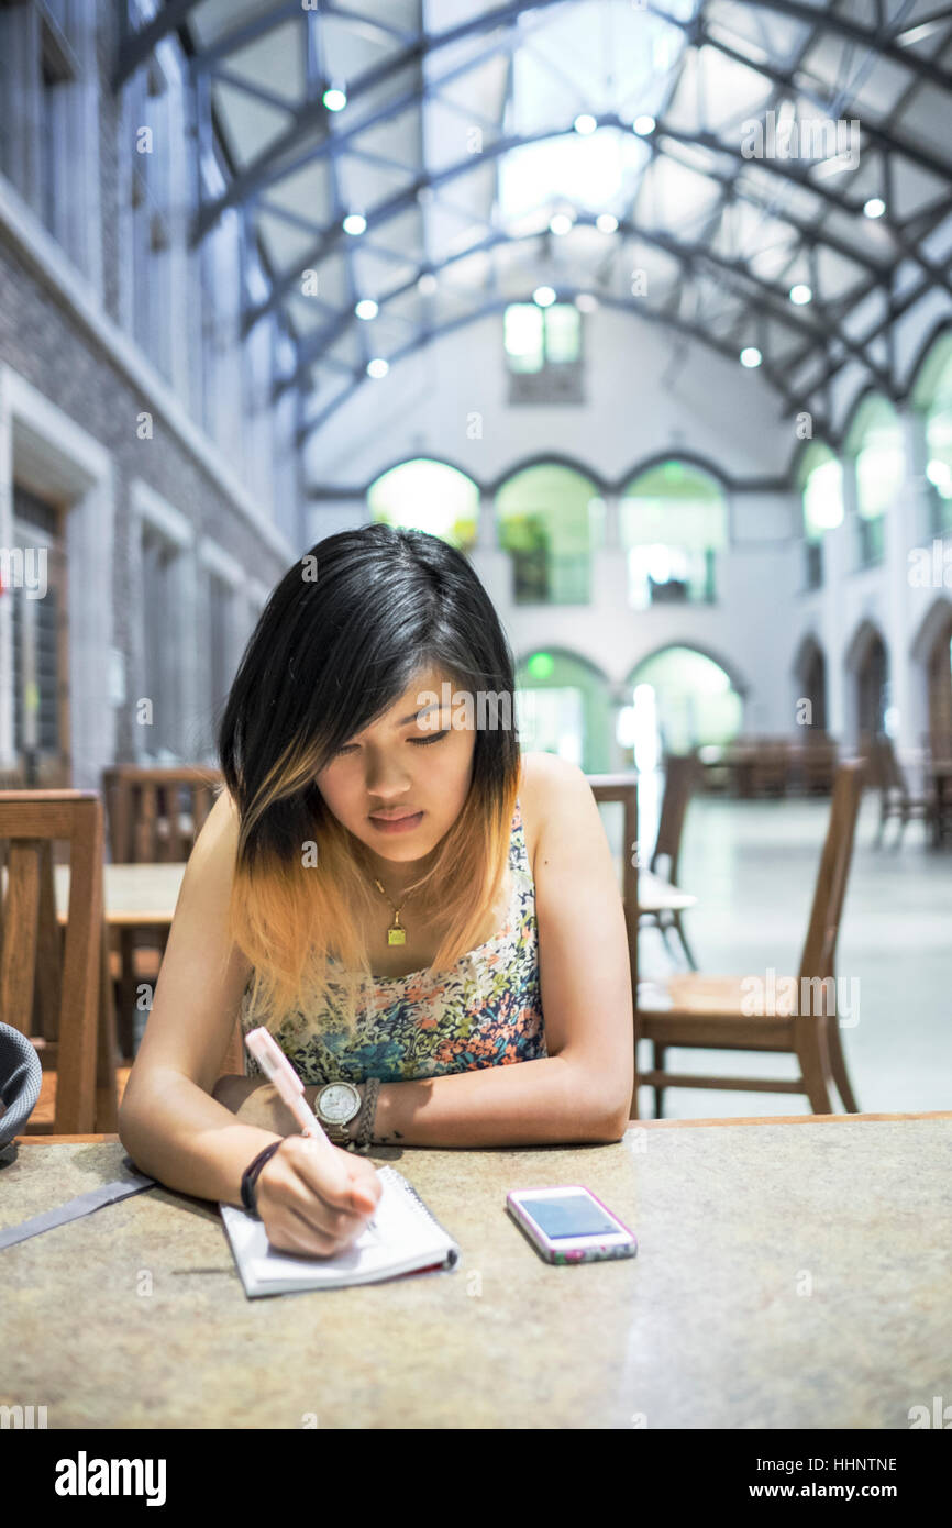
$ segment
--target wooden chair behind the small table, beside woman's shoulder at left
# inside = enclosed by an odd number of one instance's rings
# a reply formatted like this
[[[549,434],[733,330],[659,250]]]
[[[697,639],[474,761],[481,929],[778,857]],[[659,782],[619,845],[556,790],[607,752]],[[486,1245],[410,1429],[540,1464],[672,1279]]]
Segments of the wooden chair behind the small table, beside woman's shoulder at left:
[[[102,772],[113,865],[182,863],[215,802],[222,772],[202,766],[116,764]],[[136,986],[153,989],[168,929],[125,927],[113,934],[110,973],[119,986],[119,1045],[131,1060]]]

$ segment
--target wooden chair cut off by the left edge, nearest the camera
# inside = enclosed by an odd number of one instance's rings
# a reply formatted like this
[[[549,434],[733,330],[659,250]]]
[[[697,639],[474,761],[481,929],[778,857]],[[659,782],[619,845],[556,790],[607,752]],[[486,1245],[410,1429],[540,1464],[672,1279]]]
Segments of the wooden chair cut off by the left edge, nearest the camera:
[[[69,843],[66,929],[55,842]],[[43,1089],[24,1134],[115,1132],[116,1027],[102,923],[102,802],[89,790],[0,793],[0,1019],[37,1047]]]

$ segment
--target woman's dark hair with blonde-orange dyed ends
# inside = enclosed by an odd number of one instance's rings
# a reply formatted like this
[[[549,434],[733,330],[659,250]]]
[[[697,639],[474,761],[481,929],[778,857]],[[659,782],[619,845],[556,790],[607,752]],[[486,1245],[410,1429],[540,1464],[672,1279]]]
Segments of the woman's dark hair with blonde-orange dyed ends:
[[[379,892],[365,845],[330,811],[316,775],[429,668],[454,691],[507,697],[512,718],[474,720],[466,802],[408,888],[422,915],[439,911],[445,932],[428,967],[439,972],[474,947],[509,854],[515,668],[494,605],[469,561],[439,536],[365,524],[312,547],[261,611],[217,749],[240,824],[229,938],[251,961],[251,1007],[269,1030],[289,1013],[322,1008],[351,1030],[358,1010],[370,1012],[373,975],[358,931],[379,915]]]

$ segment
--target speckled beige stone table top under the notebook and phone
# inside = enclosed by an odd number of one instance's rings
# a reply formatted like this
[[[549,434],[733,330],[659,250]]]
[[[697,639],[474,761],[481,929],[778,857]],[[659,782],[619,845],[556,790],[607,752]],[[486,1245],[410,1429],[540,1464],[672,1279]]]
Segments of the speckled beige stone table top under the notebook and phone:
[[[908,1429],[952,1398],[952,1117],[374,1160],[455,1270],[249,1300],[217,1206],[148,1189],[0,1251],[0,1404],[50,1429]],[[119,1141],[20,1146],[0,1225],[122,1177]],[[504,1195],[561,1183],[637,1256],[542,1262]]]

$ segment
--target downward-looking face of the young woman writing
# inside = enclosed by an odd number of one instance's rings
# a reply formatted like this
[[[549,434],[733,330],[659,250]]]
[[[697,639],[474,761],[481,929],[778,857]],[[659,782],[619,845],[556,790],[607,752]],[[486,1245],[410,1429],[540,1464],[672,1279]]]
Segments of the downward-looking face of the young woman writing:
[[[348,738],[316,776],[335,817],[382,860],[410,865],[449,831],[469,793],[475,732],[461,707],[442,706],[439,669],[419,675],[371,727]],[[439,697],[436,706],[426,691]],[[455,726],[454,726],[455,720]],[[399,828],[384,819],[403,817]]]

